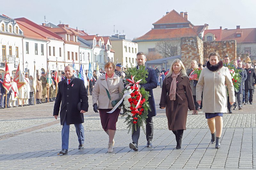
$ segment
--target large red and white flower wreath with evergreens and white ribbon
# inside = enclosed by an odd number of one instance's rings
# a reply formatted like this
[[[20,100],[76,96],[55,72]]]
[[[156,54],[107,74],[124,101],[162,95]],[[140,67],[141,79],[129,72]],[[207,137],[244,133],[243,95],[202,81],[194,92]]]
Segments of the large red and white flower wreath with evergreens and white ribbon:
[[[140,88],[140,84],[147,83],[148,71],[145,66],[128,68],[126,70],[125,88],[121,97],[124,98],[123,109],[126,116],[125,121],[128,125],[128,133],[137,131],[137,127],[142,127],[145,132],[143,122],[146,124],[148,111],[151,111],[148,102],[149,92],[144,87]]]

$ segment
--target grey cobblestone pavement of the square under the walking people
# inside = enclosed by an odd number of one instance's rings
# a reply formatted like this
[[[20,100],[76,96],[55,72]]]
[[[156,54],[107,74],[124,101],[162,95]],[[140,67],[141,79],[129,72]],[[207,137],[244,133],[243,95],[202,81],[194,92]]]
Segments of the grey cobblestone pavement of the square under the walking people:
[[[159,106],[161,89],[154,89]],[[93,113],[89,96],[89,111],[85,114],[84,150],[78,150],[77,136],[70,126],[67,155],[61,150],[61,126],[53,119],[54,103],[0,110],[0,169],[252,169],[256,168],[255,106],[243,106],[234,114],[224,114],[221,148],[209,144],[211,134],[202,111],[188,112],[187,130],[182,148],[167,129],[165,110],[157,109],[154,121],[153,147],[144,148],[145,134],[141,131],[139,151],[129,148],[124,117],[119,116],[114,152],[107,153],[108,136],[102,130],[98,114]]]

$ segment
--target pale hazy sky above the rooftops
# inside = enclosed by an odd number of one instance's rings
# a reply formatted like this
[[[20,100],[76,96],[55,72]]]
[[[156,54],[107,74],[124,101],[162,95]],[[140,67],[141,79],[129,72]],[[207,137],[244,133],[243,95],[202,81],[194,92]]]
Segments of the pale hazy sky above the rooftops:
[[[2,0],[1,0],[2,1]],[[87,33],[111,36],[115,30],[132,40],[147,33],[166,11],[188,12],[194,25],[210,29],[256,28],[256,0],[12,0],[1,3],[0,12],[25,17],[37,24],[59,21]],[[115,31],[116,33],[116,31]]]

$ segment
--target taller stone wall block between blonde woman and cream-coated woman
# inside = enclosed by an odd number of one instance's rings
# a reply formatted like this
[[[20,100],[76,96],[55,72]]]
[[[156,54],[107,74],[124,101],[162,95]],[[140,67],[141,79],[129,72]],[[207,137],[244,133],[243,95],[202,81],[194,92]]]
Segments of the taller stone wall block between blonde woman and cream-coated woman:
[[[204,42],[199,37],[182,37],[180,46],[181,61],[186,69],[190,67],[191,60],[203,63]]]

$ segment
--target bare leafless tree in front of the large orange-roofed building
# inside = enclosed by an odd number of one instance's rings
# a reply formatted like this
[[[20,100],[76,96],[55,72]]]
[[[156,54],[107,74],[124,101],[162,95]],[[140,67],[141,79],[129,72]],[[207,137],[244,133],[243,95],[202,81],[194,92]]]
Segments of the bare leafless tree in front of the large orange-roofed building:
[[[156,43],[156,51],[163,57],[178,55],[178,47],[180,47],[180,41],[160,41]]]

